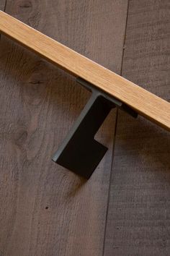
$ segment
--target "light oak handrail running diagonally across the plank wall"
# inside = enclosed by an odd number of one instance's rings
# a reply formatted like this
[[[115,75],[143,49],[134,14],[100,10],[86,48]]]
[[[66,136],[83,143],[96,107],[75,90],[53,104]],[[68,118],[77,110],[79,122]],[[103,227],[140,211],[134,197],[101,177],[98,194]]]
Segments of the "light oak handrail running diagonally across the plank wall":
[[[53,64],[96,85],[128,104],[149,120],[170,131],[170,103],[86,59],[76,51],[48,38],[19,20],[0,12],[0,32],[40,54]]]

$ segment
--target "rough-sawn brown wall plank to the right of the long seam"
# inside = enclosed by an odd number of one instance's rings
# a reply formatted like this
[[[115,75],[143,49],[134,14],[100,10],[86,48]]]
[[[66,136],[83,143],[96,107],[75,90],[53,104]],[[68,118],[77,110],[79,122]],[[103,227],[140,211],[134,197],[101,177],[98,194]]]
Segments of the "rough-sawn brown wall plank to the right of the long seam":
[[[169,22],[168,0],[130,1],[122,69],[168,101]],[[119,113],[104,255],[169,255],[169,155],[168,132]]]

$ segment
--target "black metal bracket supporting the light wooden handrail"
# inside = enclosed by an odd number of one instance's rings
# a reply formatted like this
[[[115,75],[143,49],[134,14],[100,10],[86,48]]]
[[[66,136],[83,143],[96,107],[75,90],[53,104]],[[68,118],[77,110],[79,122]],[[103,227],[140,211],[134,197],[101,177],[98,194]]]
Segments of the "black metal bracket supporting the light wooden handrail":
[[[53,161],[89,179],[107,151],[104,145],[94,140],[94,136],[109,111],[118,107],[135,118],[138,114],[116,98],[96,89],[86,80],[77,78],[76,81],[91,90],[92,95],[71,131],[53,156]]]

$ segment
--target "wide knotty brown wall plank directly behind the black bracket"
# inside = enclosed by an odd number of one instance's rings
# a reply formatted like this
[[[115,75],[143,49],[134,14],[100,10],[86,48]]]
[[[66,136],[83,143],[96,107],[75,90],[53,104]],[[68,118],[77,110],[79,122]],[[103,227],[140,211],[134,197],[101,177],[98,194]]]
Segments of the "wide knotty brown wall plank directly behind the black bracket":
[[[119,73],[127,4],[8,0],[6,12]],[[51,161],[87,98],[73,77],[2,36],[0,255],[102,255],[114,112],[97,136],[109,150],[89,182]]]

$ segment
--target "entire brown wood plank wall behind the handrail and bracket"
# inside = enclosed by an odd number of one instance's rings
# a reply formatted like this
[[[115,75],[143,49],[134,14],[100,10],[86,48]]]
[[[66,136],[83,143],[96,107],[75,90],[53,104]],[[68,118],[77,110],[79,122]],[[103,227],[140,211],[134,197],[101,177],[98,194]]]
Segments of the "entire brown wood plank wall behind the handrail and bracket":
[[[6,1],[7,13],[117,73],[127,7]],[[169,17],[168,0],[130,1],[122,62],[124,77],[167,101]],[[108,153],[85,182],[50,157],[89,94],[5,37],[0,68],[0,255],[169,255],[169,133],[120,112],[109,193],[114,111],[97,136]]]

